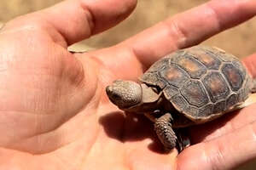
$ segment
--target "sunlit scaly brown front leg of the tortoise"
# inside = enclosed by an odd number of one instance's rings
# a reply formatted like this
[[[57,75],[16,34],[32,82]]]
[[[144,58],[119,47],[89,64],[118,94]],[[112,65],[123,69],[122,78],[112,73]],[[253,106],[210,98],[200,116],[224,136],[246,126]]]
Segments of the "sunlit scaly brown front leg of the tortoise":
[[[156,119],[154,123],[154,131],[160,142],[164,144],[165,150],[172,150],[177,144],[177,136],[172,130],[172,115],[166,113]]]

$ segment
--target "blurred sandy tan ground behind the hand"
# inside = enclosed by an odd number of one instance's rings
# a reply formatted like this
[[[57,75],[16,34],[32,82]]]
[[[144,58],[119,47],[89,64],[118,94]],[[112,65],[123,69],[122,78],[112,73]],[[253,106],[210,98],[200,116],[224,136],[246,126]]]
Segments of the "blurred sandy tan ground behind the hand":
[[[19,16],[20,14],[31,13],[42,8],[47,8],[59,3],[61,0],[8,0],[0,1],[0,26]],[[207,0],[138,0],[137,8],[131,16],[109,31],[90,37],[88,40],[74,44],[71,47],[74,51],[84,51],[94,48],[105,48],[121,42],[128,37],[153,26],[168,16],[193,8]],[[229,31],[224,31],[206,42],[207,45],[224,48],[237,57],[246,57],[256,52],[256,18],[249,20],[241,26],[236,26]],[[255,161],[256,162],[256,161]],[[249,162],[247,165],[238,168],[239,170],[255,170],[256,163]]]

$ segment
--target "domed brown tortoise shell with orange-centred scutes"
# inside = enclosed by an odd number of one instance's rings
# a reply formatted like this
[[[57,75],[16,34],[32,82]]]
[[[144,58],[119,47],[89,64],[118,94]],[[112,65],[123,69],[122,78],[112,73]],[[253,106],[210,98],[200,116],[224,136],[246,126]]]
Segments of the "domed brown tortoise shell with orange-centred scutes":
[[[141,81],[157,87],[193,122],[207,122],[241,105],[250,77],[241,61],[218,48],[195,46],[158,60]]]

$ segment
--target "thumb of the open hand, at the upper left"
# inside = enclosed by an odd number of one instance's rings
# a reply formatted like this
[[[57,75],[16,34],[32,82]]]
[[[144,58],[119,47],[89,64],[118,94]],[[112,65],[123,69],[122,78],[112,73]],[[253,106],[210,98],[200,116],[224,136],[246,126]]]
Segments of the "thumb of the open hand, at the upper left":
[[[137,0],[67,0],[27,17],[40,20],[41,25],[53,26],[70,45],[115,26],[131,14],[136,3]]]

